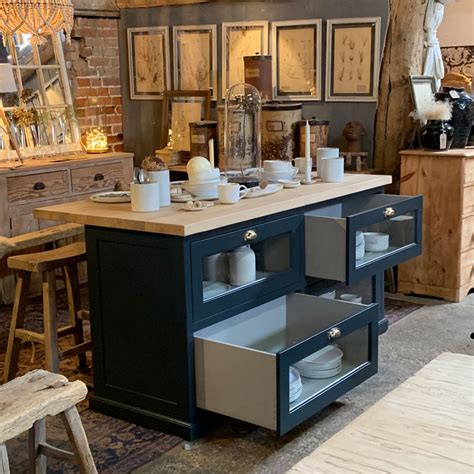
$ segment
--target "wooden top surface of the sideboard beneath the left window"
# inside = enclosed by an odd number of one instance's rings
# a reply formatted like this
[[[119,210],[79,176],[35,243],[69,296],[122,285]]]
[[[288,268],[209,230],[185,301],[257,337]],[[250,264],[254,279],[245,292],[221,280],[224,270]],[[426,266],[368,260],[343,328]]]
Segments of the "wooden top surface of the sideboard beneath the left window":
[[[110,152],[110,153],[71,153],[58,154],[49,158],[26,158],[23,163],[19,161],[2,161],[0,162],[0,174],[10,173],[11,171],[35,171],[48,168],[60,168],[64,163],[80,162],[87,165],[88,162],[97,163],[101,160],[110,161],[113,158],[133,158],[133,153],[128,152]]]

